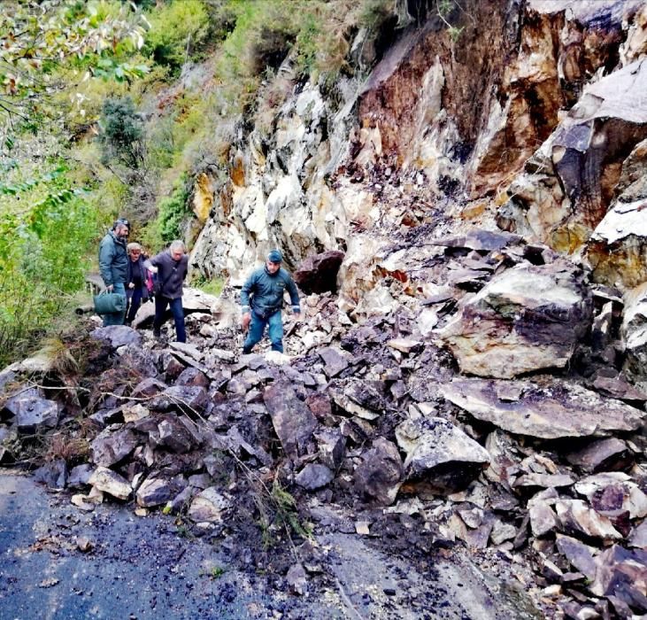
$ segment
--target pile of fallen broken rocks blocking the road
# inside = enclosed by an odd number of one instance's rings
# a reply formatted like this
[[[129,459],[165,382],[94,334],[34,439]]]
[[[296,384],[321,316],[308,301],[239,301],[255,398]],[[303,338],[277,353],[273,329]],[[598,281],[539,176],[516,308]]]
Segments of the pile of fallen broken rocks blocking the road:
[[[646,613],[647,395],[623,369],[620,291],[508,233],[404,238],[383,264],[395,309],[353,322],[312,293],[289,355],[239,355],[227,290],[189,314],[189,344],[92,329],[76,384],[44,360],[5,368],[0,459],[86,438],[36,470],[81,510],[132,502],[214,539],[291,519],[421,558],[464,545],[544,609]],[[309,566],[283,567],[293,591]]]

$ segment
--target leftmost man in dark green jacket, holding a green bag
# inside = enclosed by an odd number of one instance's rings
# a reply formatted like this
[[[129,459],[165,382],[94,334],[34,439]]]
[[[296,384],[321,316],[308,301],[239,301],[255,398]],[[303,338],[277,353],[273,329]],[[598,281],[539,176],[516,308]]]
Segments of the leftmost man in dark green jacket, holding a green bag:
[[[126,238],[129,229],[130,223],[119,218],[99,244],[99,272],[104,280],[105,290],[124,296],[124,309],[121,312],[104,314],[104,325],[122,325],[124,322],[128,271]]]

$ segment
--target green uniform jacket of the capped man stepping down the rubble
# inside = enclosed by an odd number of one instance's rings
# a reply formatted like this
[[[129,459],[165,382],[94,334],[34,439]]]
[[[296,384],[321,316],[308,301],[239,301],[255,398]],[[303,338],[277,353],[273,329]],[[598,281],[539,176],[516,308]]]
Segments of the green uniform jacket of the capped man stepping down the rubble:
[[[289,273],[281,267],[275,274],[270,274],[266,267],[254,271],[241,291],[243,313],[254,312],[263,318],[283,307],[283,293],[289,292],[293,312],[300,312],[297,286]]]

